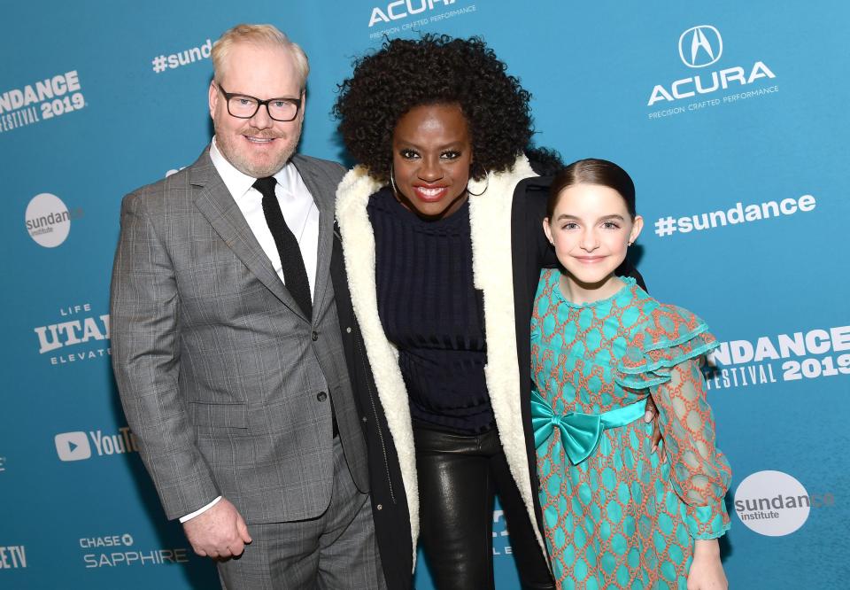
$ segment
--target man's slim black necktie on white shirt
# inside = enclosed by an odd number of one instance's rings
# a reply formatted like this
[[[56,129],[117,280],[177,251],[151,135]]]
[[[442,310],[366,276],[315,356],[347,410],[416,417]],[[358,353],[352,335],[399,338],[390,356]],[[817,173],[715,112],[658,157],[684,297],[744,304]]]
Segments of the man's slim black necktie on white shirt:
[[[298,239],[286,224],[286,220],[283,219],[281,205],[277,202],[277,197],[274,196],[275,184],[277,184],[277,180],[274,176],[267,176],[266,178],[258,178],[253,186],[263,195],[263,213],[266,214],[268,229],[272,230],[274,244],[277,245],[277,253],[281,255],[283,283],[286,284],[292,299],[295,299],[307,319],[311,319],[313,317],[313,299],[310,297],[310,282],[307,280],[304,258],[301,256]]]

